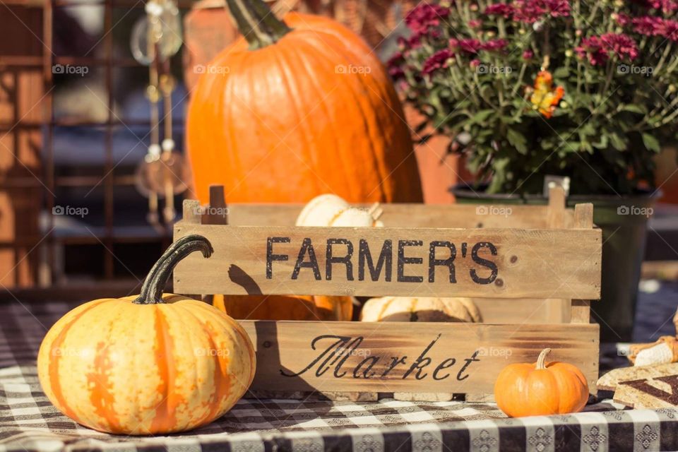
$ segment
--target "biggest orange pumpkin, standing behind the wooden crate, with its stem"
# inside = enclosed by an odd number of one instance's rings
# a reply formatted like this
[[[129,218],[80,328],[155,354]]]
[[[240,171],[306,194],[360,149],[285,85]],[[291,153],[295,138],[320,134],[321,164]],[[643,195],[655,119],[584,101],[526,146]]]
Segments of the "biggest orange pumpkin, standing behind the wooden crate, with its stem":
[[[367,44],[329,18],[227,4],[244,37],[200,68],[186,122],[201,203],[210,184],[235,203],[422,201],[403,109]]]

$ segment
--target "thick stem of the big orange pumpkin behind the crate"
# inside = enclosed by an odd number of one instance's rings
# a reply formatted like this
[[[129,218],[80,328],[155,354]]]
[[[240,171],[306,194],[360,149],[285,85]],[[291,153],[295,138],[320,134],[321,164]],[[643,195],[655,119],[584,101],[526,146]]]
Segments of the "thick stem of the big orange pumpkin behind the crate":
[[[292,28],[275,17],[263,0],[226,0],[239,32],[252,50],[275,44]]]

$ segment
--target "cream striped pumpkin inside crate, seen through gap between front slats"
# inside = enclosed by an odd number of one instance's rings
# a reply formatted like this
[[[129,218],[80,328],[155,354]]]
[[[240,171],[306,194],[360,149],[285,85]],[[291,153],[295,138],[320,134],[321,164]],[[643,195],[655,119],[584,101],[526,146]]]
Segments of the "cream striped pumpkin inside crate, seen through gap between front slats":
[[[379,297],[362,307],[364,322],[482,322],[477,306],[470,298]]]

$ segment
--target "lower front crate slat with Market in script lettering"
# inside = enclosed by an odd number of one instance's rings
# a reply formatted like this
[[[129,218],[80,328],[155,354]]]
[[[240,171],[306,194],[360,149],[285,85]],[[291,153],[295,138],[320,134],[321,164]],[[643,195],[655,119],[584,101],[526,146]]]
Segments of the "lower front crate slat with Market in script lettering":
[[[389,322],[241,324],[256,346],[253,390],[492,393],[501,369],[534,362],[548,346],[596,391],[595,324],[409,323],[407,334]]]

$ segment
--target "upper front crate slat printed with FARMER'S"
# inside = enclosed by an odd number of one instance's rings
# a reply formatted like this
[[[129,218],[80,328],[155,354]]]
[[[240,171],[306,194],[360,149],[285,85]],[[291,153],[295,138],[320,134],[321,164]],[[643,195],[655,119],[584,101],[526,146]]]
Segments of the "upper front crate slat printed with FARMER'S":
[[[186,234],[207,237],[215,252],[179,263],[177,293],[600,297],[600,230],[177,223],[174,239]]]

